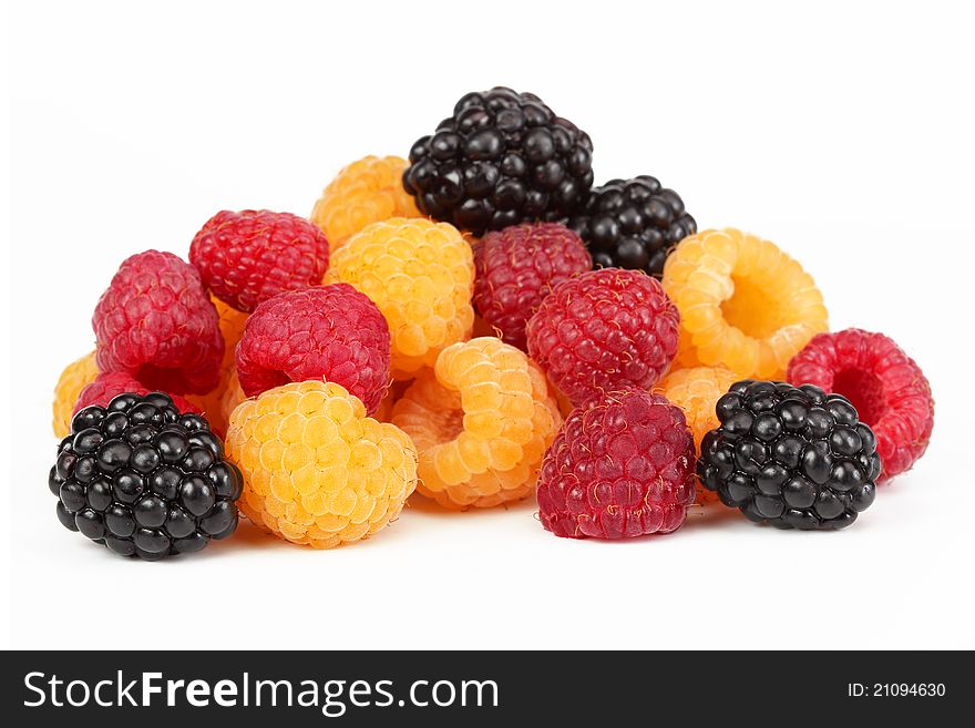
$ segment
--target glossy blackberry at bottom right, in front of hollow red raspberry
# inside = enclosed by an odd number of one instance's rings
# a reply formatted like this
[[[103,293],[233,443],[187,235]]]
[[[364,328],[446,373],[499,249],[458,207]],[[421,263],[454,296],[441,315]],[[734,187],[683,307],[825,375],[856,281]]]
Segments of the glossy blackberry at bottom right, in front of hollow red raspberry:
[[[715,408],[697,474],[725,505],[779,529],[842,529],[873,503],[873,431],[845,397],[812,384],[745,380]]]

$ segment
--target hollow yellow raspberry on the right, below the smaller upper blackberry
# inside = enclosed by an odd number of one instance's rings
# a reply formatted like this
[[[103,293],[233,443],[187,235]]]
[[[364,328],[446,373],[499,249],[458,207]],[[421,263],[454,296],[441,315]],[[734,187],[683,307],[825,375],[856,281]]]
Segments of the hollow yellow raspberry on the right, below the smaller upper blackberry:
[[[812,276],[772,243],[733,228],[684,238],[663,284],[680,310],[684,366],[782,377],[792,356],[828,329]]]

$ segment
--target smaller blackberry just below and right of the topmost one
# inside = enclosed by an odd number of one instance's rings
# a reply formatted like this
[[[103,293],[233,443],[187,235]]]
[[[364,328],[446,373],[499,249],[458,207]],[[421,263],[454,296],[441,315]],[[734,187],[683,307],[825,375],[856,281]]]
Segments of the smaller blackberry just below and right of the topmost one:
[[[568,226],[589,248],[596,268],[634,268],[656,276],[670,249],[697,233],[680,196],[649,175],[594,188]]]

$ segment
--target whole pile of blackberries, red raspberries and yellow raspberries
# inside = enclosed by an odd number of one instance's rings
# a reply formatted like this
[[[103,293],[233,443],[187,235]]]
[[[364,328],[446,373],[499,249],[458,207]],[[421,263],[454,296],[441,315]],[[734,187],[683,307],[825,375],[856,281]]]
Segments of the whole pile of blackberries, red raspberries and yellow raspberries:
[[[698,232],[649,175],[593,186],[537,96],[469,93],[409,158],[368,156],[310,219],[223,211],[122,262],[54,391],[57,515],[143,560],[238,513],[328,548],[414,493],[537,494],[557,536],[676,531],[720,501],[834,530],[924,454],[931,387],[894,341],[829,332],[769,240]]]

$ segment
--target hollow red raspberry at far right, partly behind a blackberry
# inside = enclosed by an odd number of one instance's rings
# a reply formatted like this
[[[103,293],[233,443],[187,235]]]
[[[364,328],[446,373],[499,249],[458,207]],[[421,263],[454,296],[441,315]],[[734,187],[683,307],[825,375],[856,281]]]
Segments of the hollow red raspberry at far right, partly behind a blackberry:
[[[931,384],[914,360],[883,334],[846,329],[814,336],[792,357],[787,378],[849,399],[876,435],[878,482],[911,469],[934,427]]]

